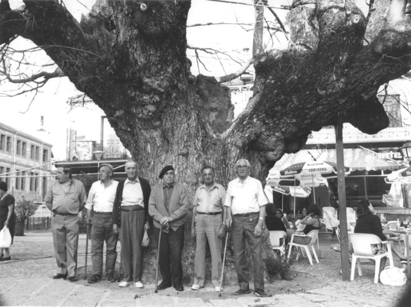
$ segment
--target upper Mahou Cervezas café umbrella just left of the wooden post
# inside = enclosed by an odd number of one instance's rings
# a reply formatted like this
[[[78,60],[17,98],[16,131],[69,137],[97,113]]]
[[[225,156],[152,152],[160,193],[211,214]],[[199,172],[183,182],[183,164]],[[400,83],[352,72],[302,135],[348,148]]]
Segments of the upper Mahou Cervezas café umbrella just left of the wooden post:
[[[344,174],[348,175],[350,169],[344,166]],[[337,175],[337,163],[328,161],[306,161],[291,164],[290,166],[280,170],[280,177],[295,178],[300,181],[303,186],[319,186],[326,184],[324,177]],[[310,181],[310,182],[309,182]],[[323,182],[323,183],[322,183]],[[313,190],[315,199],[315,190]]]

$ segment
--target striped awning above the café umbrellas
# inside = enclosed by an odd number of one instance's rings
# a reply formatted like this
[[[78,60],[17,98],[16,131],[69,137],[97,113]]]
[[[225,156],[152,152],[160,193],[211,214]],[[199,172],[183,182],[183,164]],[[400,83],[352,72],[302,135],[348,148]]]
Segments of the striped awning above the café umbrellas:
[[[278,160],[270,173],[277,173],[291,164],[304,161],[330,161],[337,162],[337,154],[335,149],[302,149],[295,154],[284,154]],[[363,148],[347,148],[344,149],[344,166],[355,170],[396,170],[404,168],[403,164],[378,158],[371,152]],[[270,177],[270,174],[268,175]]]

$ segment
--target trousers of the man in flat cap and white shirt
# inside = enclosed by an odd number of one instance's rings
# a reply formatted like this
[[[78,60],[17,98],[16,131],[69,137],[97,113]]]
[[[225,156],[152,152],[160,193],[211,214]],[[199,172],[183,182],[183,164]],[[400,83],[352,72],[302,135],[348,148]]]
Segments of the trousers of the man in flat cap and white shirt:
[[[95,213],[91,227],[91,262],[93,274],[103,275],[103,248],[105,241],[105,272],[112,273],[117,259],[118,235],[113,232],[111,215]]]

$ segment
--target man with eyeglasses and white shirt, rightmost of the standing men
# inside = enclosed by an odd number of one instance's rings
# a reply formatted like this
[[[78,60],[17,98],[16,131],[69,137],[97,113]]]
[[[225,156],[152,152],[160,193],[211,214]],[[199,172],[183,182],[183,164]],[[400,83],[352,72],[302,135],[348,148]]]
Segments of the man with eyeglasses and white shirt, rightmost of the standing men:
[[[254,295],[266,297],[264,292],[264,264],[261,233],[267,199],[262,184],[249,176],[250,162],[240,159],[236,163],[238,177],[228,183],[224,206],[227,207],[226,224],[231,224],[234,256],[240,289],[234,295],[251,293],[248,280],[248,262],[245,254],[247,239],[253,258]]]

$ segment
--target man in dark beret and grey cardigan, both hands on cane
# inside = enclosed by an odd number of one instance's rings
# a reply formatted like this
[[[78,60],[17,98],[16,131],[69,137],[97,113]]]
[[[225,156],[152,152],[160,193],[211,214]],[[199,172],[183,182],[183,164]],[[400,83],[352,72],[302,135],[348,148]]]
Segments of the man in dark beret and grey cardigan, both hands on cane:
[[[157,289],[172,286],[183,291],[181,252],[184,244],[184,223],[188,212],[187,191],[174,181],[174,168],[165,166],[159,175],[162,181],[154,185],[150,195],[149,214],[154,220],[154,235],[159,237],[159,266],[163,280]]]

